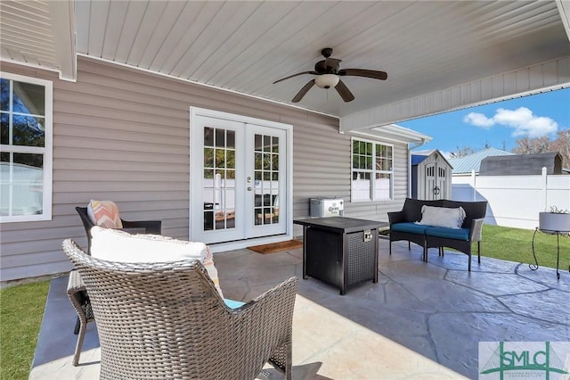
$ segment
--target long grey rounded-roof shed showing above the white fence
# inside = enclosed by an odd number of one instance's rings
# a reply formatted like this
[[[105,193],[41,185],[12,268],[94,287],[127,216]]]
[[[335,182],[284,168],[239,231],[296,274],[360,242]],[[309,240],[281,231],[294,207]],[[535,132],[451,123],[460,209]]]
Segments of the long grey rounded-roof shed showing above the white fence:
[[[479,174],[482,176],[539,175],[542,168],[546,168],[548,175],[565,174],[562,170],[562,155],[538,153],[487,157],[481,161]]]

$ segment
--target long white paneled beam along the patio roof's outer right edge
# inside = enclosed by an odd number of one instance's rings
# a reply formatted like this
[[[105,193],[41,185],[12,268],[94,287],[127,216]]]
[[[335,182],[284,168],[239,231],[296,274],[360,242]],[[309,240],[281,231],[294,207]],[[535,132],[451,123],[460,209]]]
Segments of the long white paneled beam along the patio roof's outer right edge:
[[[340,132],[456,111],[570,87],[570,55],[340,118]]]

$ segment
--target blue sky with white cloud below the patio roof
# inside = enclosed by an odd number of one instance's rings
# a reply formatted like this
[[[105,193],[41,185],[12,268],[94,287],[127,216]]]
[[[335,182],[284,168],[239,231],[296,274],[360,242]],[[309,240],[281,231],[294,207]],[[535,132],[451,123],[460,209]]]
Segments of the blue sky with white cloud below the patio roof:
[[[513,100],[447,112],[397,125],[432,137],[418,150],[439,149],[442,153],[470,147],[475,152],[485,145],[497,149],[517,146],[517,139],[550,136],[570,128],[570,88]]]

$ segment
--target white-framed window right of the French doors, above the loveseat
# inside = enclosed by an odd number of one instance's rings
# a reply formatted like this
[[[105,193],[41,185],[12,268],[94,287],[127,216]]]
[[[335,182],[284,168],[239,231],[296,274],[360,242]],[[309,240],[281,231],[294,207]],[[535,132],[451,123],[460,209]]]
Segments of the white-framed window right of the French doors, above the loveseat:
[[[392,199],[394,148],[353,138],[351,202]]]

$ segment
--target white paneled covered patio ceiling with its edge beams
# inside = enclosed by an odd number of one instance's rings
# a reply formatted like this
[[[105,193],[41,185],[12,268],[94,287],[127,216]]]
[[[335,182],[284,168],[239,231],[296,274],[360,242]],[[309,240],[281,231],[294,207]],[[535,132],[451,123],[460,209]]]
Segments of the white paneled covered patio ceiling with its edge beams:
[[[1,58],[75,80],[77,55],[338,117],[340,130],[570,86],[568,1],[3,1]],[[355,100],[314,87],[324,47]]]

